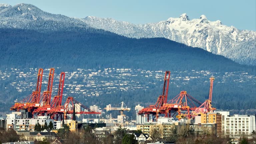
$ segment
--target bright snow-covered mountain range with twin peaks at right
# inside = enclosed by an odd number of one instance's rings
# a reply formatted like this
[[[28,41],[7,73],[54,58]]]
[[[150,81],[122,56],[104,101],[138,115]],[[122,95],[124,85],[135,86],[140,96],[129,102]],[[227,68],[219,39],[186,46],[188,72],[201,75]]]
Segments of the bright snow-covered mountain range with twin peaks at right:
[[[256,65],[256,32],[228,27],[205,15],[190,20],[186,13],[158,23],[135,25],[111,18],[88,16],[81,19],[89,26],[131,38],[163,37],[188,46],[223,55],[238,63]]]

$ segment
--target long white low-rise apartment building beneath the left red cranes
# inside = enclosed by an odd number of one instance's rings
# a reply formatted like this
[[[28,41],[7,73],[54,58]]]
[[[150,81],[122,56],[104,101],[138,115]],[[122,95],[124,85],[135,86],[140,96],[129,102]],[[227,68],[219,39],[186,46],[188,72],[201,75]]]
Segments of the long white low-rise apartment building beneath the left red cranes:
[[[21,112],[13,112],[12,114],[6,115],[6,129],[12,128],[16,131],[19,130],[30,130],[34,131],[35,125],[40,124],[41,126],[44,125],[46,122],[49,125],[50,121],[54,124],[54,120],[52,119],[45,119],[45,118],[23,118]],[[60,125],[55,124],[55,129],[59,129]]]

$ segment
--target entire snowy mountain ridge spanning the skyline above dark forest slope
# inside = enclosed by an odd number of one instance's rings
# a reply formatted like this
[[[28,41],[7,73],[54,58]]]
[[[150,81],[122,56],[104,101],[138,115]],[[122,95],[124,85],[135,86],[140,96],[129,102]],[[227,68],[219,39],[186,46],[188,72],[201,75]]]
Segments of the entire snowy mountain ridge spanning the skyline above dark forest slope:
[[[190,29],[187,29],[188,27]],[[44,12],[31,4],[0,4],[0,28],[39,32],[102,29],[129,38],[163,37],[223,55],[240,64],[256,65],[256,32],[227,27],[222,25],[221,21],[211,22],[205,15],[201,15],[200,19],[190,20],[187,14],[182,14],[179,18],[170,17],[158,23],[135,25],[93,16],[84,19],[70,18]],[[221,31],[223,29],[224,31]]]

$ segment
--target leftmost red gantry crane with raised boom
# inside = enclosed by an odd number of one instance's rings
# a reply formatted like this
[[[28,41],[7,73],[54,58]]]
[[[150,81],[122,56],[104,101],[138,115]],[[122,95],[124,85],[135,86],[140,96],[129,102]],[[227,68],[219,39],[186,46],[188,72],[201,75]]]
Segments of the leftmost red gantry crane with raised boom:
[[[20,109],[25,109],[28,112],[33,112],[35,109],[40,107],[39,101],[40,101],[42,77],[43,77],[43,69],[39,68],[38,74],[37,74],[36,90],[33,91],[31,95],[24,98],[21,102],[15,103],[14,106],[10,108],[10,110],[19,111]]]

